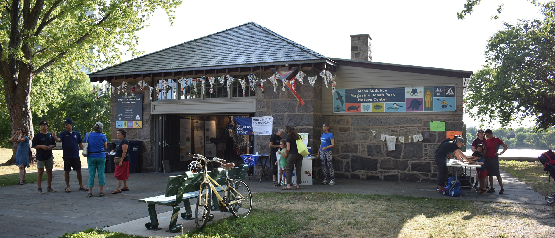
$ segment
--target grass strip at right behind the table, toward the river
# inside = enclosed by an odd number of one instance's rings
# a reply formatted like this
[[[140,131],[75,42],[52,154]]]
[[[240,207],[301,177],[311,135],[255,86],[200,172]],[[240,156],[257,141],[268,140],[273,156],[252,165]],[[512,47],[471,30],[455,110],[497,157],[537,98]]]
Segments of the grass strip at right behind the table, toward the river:
[[[547,183],[549,174],[543,171],[543,165],[539,162],[501,160],[499,167],[528,184],[541,195],[555,193],[555,181],[551,178],[551,183]],[[497,180],[494,180],[493,183],[497,183]]]

